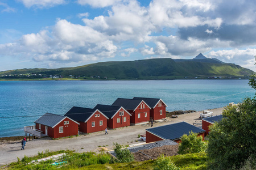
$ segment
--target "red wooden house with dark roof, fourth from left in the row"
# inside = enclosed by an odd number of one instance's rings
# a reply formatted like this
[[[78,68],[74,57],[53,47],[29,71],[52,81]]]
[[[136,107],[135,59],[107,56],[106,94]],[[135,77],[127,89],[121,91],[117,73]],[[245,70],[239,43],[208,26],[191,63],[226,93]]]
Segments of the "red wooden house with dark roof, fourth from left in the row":
[[[130,124],[142,124],[150,121],[150,107],[143,100],[118,98],[112,106],[123,107],[131,114]]]

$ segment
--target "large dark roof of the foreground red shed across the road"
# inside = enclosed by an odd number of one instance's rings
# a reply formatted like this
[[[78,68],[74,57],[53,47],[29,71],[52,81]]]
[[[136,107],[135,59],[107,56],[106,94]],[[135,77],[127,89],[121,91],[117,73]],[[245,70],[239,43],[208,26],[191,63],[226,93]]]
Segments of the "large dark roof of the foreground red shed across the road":
[[[193,131],[193,133],[203,133],[205,130],[201,128],[197,128],[196,126],[190,125],[187,122],[179,122],[176,124],[159,126],[156,128],[146,129],[146,131],[157,135],[163,139],[179,139],[182,135],[189,135],[189,131]]]

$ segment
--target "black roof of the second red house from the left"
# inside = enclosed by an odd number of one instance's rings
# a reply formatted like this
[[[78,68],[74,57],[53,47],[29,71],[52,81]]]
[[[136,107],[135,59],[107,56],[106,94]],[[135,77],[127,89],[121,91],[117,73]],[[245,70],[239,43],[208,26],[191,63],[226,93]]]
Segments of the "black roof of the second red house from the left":
[[[97,109],[72,107],[64,116],[72,120],[85,122]]]

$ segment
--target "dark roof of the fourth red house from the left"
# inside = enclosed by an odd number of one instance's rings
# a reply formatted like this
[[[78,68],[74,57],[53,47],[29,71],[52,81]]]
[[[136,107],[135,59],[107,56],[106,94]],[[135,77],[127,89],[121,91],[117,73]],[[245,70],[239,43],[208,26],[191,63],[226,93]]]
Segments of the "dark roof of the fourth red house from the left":
[[[142,100],[134,100],[134,99],[123,99],[118,98],[112,104],[113,106],[123,107],[126,110],[134,110],[138,107]]]

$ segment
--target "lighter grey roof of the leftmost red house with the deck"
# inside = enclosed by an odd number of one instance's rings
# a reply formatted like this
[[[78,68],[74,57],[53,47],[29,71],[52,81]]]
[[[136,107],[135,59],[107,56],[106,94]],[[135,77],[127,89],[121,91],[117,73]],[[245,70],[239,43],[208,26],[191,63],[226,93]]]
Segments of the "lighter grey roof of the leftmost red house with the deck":
[[[38,120],[35,121],[35,123],[53,127],[64,118],[65,116],[59,114],[46,113],[43,116],[39,117]]]

